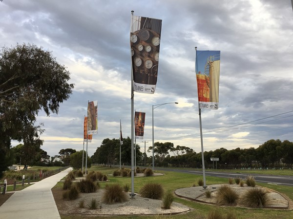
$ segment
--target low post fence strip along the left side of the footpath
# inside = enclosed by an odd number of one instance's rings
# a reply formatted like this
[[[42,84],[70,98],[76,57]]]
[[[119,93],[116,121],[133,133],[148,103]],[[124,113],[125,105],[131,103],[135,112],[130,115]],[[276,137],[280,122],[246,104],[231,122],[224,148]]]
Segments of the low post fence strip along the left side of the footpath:
[[[30,184],[32,182],[38,182],[42,179],[45,179],[47,177],[50,177],[52,175],[55,175],[67,168],[69,168],[70,166],[64,166],[61,167],[59,169],[53,170],[53,171],[46,171],[46,172],[42,172],[42,170],[40,171],[40,174],[36,174],[33,175],[32,177],[29,176],[27,179],[25,179],[25,175],[22,175],[22,180],[19,182],[14,181],[13,183],[13,191],[16,190],[16,185],[21,184],[22,186],[24,186],[24,183],[27,182],[27,184]],[[11,185],[11,184],[10,184]],[[5,193],[7,192],[7,180],[4,180],[4,182],[2,184],[0,184],[0,194],[5,195]]]

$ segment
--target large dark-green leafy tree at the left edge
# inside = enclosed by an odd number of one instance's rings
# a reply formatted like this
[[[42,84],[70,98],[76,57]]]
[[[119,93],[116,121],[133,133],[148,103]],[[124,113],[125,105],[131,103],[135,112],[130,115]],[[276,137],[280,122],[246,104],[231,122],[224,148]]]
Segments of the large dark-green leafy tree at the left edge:
[[[40,148],[43,129],[34,126],[37,115],[40,110],[47,116],[58,113],[74,88],[69,79],[66,68],[42,47],[17,44],[0,49],[0,136],[5,136],[0,138],[0,154],[10,156],[11,139],[23,140],[28,153]],[[0,174],[7,165],[0,167]]]

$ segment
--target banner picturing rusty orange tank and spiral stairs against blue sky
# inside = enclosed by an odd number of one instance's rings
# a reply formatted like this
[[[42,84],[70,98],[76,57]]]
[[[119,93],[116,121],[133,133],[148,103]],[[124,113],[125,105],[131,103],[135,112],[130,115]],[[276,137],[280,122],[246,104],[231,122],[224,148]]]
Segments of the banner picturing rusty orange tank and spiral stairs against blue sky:
[[[200,109],[219,107],[220,51],[196,51],[195,72]]]

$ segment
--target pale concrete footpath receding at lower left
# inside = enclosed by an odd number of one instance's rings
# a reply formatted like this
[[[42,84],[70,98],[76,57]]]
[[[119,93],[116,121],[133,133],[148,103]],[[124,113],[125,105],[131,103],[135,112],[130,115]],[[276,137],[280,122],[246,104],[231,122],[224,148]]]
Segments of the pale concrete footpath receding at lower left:
[[[15,192],[0,206],[0,219],[61,219],[51,188],[72,168]]]

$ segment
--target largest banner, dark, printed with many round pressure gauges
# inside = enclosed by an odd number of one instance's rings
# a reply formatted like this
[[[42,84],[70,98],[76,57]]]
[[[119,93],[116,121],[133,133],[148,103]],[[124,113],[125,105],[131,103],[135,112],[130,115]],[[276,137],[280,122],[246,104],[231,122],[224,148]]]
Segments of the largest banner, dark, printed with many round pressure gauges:
[[[132,16],[130,49],[134,91],[154,93],[158,78],[162,20]]]

